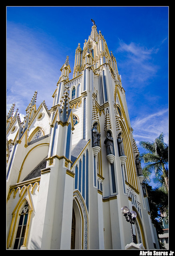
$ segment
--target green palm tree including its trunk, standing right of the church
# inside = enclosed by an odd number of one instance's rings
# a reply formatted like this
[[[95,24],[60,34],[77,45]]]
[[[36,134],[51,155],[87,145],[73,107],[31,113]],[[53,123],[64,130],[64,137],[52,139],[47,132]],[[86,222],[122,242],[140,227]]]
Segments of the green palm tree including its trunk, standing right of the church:
[[[164,214],[165,222],[168,222],[168,145],[164,143],[164,135],[161,133],[154,142],[139,142],[140,146],[145,148],[147,152],[140,155],[146,165],[143,167],[143,176],[145,182],[150,182],[150,176],[153,174],[153,182],[157,184],[157,188],[153,189],[154,196],[159,198],[153,199],[158,206],[159,211]],[[149,196],[150,200],[150,196]]]

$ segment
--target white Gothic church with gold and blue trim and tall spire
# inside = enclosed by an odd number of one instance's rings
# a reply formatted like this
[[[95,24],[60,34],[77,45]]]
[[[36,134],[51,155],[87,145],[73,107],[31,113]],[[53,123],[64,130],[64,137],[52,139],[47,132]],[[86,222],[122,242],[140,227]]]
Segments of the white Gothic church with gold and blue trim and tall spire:
[[[159,249],[117,62],[92,22],[53,106],[35,91],[23,122],[8,112],[7,249]]]

